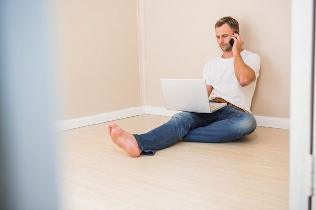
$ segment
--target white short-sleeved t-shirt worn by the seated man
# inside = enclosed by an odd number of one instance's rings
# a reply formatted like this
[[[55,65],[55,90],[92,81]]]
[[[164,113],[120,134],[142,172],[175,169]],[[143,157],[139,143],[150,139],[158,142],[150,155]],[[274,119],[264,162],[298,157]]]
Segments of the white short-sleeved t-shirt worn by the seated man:
[[[223,98],[224,100],[242,108],[249,113],[251,100],[254,94],[257,78],[260,70],[259,55],[247,50],[240,53],[246,65],[253,69],[255,73],[255,80],[249,85],[242,87],[234,71],[234,58],[222,58],[222,56],[215,57],[206,62],[203,70],[203,78],[206,85],[213,86],[213,92],[210,98]]]

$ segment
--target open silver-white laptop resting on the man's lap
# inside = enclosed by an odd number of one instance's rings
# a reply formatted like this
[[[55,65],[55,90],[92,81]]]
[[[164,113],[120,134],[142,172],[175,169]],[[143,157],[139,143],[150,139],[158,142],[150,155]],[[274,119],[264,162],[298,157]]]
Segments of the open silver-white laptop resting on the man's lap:
[[[160,79],[168,110],[212,113],[227,106],[209,102],[205,80]]]

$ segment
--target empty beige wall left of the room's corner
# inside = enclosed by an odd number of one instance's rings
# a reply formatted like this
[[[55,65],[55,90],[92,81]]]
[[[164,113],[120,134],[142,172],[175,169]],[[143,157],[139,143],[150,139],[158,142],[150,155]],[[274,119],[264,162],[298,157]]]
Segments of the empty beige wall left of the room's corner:
[[[60,0],[60,120],[140,106],[137,1]]]

